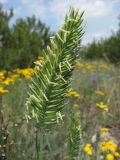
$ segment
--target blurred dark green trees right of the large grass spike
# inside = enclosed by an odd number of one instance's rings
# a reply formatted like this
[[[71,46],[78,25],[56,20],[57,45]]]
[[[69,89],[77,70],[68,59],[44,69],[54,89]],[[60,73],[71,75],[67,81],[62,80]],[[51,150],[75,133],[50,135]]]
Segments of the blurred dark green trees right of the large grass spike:
[[[81,54],[86,59],[105,59],[112,63],[120,63],[120,24],[116,33],[106,39],[84,46]]]

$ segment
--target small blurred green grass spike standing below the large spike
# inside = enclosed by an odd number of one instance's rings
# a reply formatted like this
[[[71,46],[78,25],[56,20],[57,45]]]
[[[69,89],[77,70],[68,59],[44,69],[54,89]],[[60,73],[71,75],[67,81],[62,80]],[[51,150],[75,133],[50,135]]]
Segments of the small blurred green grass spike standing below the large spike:
[[[68,148],[71,160],[75,160],[80,152],[81,128],[80,113],[72,112],[70,118]]]

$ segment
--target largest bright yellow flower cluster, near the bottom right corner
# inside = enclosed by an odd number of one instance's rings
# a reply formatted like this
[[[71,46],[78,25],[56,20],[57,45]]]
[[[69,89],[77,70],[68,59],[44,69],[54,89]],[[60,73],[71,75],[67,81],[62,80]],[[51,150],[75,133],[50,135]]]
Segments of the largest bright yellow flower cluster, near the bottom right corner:
[[[102,141],[101,142],[102,151],[111,151],[115,152],[117,149],[117,145],[112,140]]]

